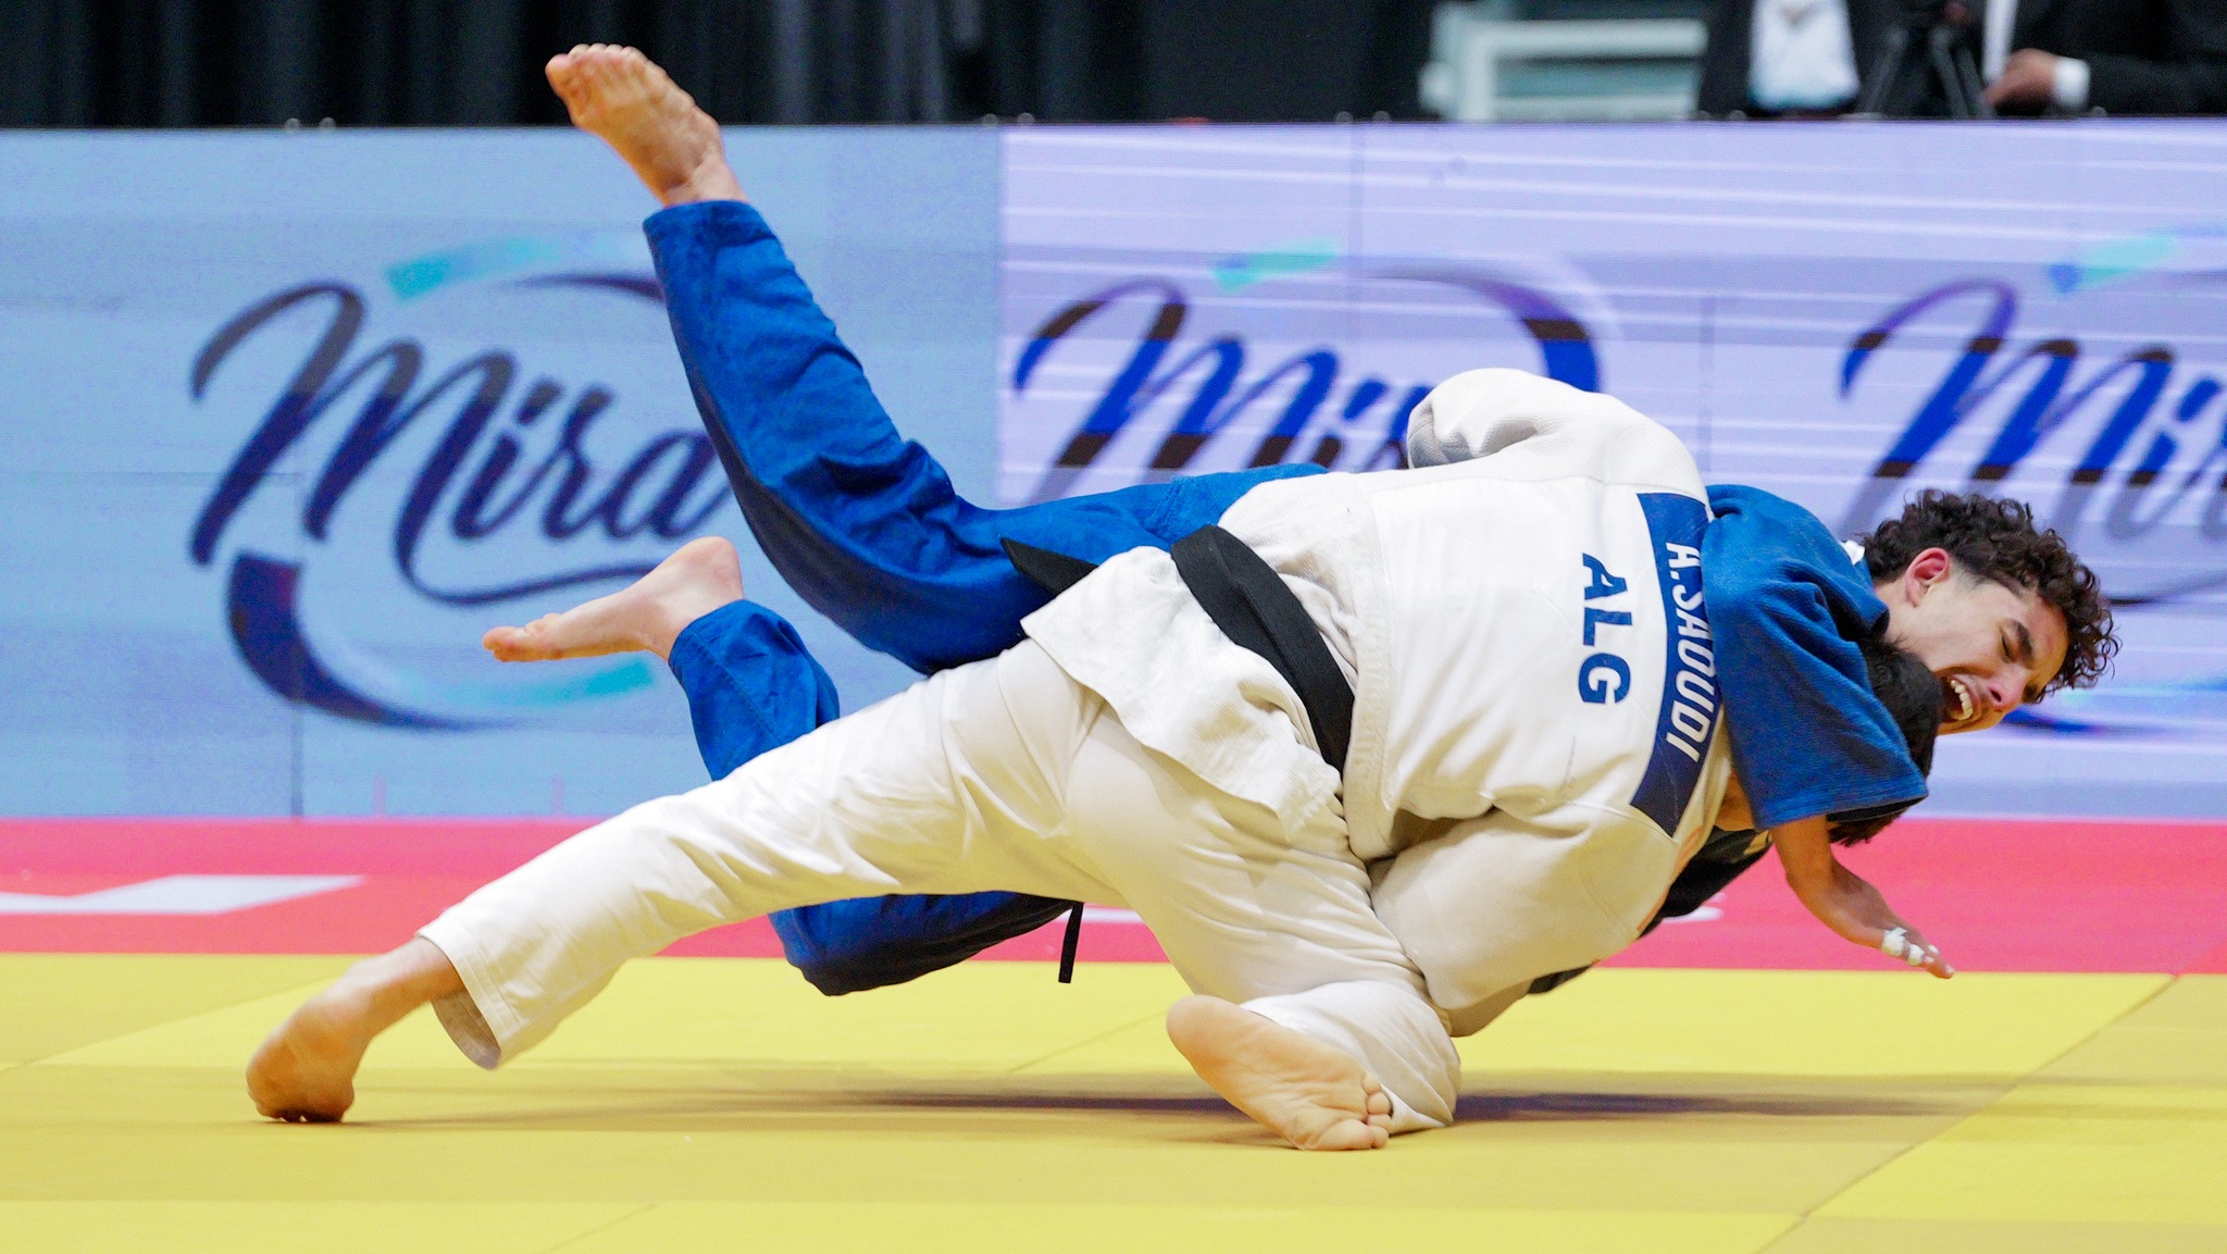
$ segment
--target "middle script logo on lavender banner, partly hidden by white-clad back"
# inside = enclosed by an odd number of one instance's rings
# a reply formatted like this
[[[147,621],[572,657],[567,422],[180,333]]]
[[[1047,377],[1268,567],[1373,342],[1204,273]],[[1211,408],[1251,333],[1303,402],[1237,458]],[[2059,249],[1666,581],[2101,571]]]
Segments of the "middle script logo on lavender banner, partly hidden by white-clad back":
[[[1062,301],[1022,336],[1004,379],[1004,497],[1285,461],[1399,466],[1410,410],[1439,379],[1483,365],[1494,339],[1514,341],[1503,345],[1512,365],[1601,385],[1590,310],[1548,285],[1454,263],[1354,274],[1334,263],[1330,245],[1267,249],[1220,258],[1191,283],[1167,276],[1183,274],[1178,261]],[[1265,281],[1281,283],[1247,292]],[[1325,321],[1325,298],[1350,316],[1309,327]],[[1423,305],[1436,325],[1412,343],[1381,327],[1352,334],[1374,305]],[[1309,330],[1325,334],[1309,343]]]

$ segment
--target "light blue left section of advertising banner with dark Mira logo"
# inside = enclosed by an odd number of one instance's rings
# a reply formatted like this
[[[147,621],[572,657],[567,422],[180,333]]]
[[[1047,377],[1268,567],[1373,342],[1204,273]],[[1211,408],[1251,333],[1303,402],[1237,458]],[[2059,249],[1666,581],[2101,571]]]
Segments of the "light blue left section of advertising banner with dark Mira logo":
[[[909,430],[989,492],[995,140],[737,131]],[[581,134],[0,138],[0,813],[610,813],[699,784],[641,655],[494,624],[726,532],[851,704],[906,673],[755,557]]]

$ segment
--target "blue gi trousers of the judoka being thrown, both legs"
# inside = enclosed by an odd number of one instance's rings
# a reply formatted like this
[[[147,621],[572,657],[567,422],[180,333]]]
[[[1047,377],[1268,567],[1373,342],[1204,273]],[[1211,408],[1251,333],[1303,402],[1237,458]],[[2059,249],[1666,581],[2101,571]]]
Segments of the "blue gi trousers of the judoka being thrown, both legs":
[[[929,673],[1020,641],[1049,597],[1000,546],[1085,561],[1167,548],[1220,519],[1256,483],[1314,466],[1265,466],[987,510],[902,439],[835,323],[750,205],[679,205],[646,223],[673,339],[742,517],[775,570],[869,648]],[[688,693],[713,777],[835,717],[835,688],[782,619],[728,606],[681,633]],[[895,984],[1051,922],[1073,902],[1020,893],[875,898],[773,915],[817,989]]]

